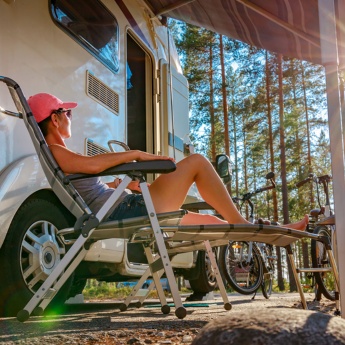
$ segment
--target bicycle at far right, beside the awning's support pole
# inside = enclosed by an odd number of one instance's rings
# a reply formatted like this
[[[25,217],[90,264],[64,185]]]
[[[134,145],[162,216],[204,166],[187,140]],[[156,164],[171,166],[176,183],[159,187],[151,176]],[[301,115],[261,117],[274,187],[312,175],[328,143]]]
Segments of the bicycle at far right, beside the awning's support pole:
[[[336,249],[335,245],[335,215],[331,209],[330,197],[329,197],[329,183],[332,181],[330,175],[309,176],[298,182],[296,187],[301,187],[308,182],[312,182],[316,185],[317,201],[319,208],[315,208],[310,211],[310,224],[308,225],[308,231],[314,234],[324,236],[328,238],[329,243],[332,246],[333,251]],[[325,196],[325,204],[322,205],[320,201],[319,185],[323,187],[323,193]],[[326,252],[326,247],[322,242],[311,241],[310,246],[311,259],[313,268],[321,269],[321,271],[313,272],[315,278],[315,298],[321,299],[321,294],[327,299],[334,301],[338,300],[338,292],[334,288],[335,284],[332,281],[333,277],[329,275],[331,273],[331,265]],[[336,253],[335,253],[336,254]],[[336,255],[335,255],[336,256]],[[331,284],[329,284],[331,281]],[[328,285],[331,285],[329,288]]]

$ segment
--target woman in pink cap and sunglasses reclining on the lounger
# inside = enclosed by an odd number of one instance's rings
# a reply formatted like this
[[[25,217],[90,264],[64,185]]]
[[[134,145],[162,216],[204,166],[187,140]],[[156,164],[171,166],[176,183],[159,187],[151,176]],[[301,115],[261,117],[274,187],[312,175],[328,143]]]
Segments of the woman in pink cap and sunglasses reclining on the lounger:
[[[173,160],[167,156],[132,150],[119,153],[106,153],[96,156],[84,156],[69,150],[65,139],[71,136],[72,110],[75,102],[62,102],[57,97],[39,93],[28,99],[28,104],[40,126],[46,142],[65,174],[97,174],[118,164],[131,161]],[[237,210],[222,180],[211,163],[199,154],[186,157],[176,164],[174,172],[160,175],[150,186],[150,194],[157,213],[176,211],[183,204],[190,186],[195,182],[202,198],[208,202],[224,220],[212,215],[188,213],[181,224],[245,224],[249,223]],[[74,182],[76,189],[90,205],[93,212],[101,207],[109,194],[116,188],[119,180],[108,185],[99,178]],[[146,215],[142,196],[124,194],[116,203],[110,219],[124,219]],[[308,216],[297,223],[288,224],[296,230],[305,230]]]

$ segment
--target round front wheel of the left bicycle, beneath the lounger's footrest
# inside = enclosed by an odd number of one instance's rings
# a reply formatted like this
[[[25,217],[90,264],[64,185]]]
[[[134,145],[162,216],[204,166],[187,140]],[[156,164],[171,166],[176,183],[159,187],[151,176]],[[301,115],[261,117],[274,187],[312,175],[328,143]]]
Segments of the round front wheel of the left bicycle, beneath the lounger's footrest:
[[[263,265],[255,243],[229,241],[220,248],[219,268],[229,285],[243,295],[254,293],[261,285]]]

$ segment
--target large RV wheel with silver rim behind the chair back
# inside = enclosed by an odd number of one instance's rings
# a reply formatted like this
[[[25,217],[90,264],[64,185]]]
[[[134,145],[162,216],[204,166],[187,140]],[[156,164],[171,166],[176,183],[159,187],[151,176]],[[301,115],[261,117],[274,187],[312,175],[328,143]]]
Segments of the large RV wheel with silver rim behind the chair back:
[[[69,225],[61,208],[50,201],[31,199],[19,208],[0,251],[1,316],[15,316],[64,256],[66,248],[56,231]],[[49,304],[49,311],[62,309],[71,283],[72,277]]]

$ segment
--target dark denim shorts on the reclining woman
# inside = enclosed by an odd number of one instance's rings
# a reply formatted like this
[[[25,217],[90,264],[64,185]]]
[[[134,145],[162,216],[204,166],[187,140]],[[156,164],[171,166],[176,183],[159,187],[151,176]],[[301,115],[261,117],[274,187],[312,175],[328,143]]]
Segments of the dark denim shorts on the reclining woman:
[[[109,216],[109,220],[121,220],[147,216],[147,210],[141,194],[128,194]]]

